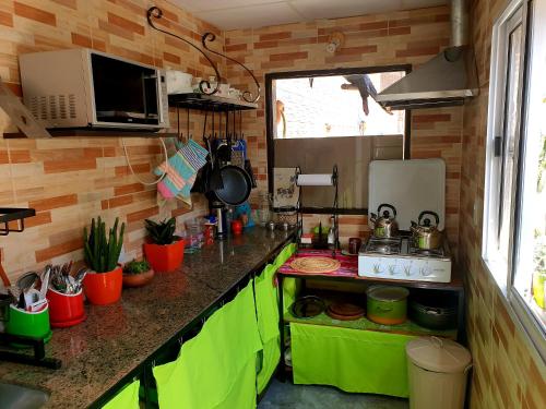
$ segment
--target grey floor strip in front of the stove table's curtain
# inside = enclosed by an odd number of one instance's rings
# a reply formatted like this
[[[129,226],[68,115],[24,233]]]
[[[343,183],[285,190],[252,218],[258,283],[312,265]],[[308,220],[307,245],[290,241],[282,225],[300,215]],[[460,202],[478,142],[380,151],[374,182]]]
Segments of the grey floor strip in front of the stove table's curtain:
[[[293,385],[274,380],[258,409],[407,409],[407,399],[346,394],[334,387]]]

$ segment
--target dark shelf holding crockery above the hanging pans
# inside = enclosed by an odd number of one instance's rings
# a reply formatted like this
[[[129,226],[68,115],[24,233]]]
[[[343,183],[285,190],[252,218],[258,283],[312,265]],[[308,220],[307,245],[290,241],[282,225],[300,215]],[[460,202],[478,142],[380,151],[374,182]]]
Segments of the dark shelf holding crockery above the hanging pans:
[[[169,95],[169,106],[180,108],[200,109],[204,111],[240,111],[257,109],[258,104],[247,103],[245,100],[217,97],[214,95],[193,94],[173,94]]]

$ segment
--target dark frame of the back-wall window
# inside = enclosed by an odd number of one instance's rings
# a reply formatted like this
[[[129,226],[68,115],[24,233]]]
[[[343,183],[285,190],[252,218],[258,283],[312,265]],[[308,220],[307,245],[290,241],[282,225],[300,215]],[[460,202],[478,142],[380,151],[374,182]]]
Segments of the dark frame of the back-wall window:
[[[304,70],[304,71],[284,71],[271,72],[265,76],[265,139],[268,147],[268,191],[273,194],[273,168],[275,164],[275,147],[274,147],[274,124],[273,124],[273,81],[275,80],[290,80],[290,79],[305,79],[316,76],[332,76],[332,75],[352,75],[352,74],[377,74],[381,72],[405,71],[406,75],[412,72],[411,64],[393,64],[393,65],[373,65],[360,68],[336,68],[329,70]],[[404,147],[403,158],[410,159],[411,157],[411,130],[412,130],[412,110],[405,110],[404,118]],[[357,136],[357,135],[355,135]],[[330,214],[332,208],[322,207],[305,207],[304,212],[314,214]],[[367,208],[340,208],[339,214],[346,215],[367,215]]]

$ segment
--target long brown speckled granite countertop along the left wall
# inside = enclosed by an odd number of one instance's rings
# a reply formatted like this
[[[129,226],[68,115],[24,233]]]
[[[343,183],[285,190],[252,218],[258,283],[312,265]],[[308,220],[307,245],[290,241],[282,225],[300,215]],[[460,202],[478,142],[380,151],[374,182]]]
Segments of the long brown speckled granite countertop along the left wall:
[[[86,304],[85,322],[54,329],[46,356],[61,359],[60,370],[0,362],[0,382],[49,392],[47,408],[85,408],[259,267],[287,239],[287,232],[254,227],[240,237],[186,254],[179,270],[157,274],[146,287],[124,289],[116,304]]]

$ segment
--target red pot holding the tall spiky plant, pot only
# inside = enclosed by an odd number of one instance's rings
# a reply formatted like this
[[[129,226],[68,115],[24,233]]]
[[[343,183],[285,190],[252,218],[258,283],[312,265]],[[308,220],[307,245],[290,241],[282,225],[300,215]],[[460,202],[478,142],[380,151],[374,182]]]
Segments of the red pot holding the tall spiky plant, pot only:
[[[83,290],[92,304],[106,305],[120,299],[122,284],[123,270],[121,267],[108,273],[90,272],[83,279]]]

